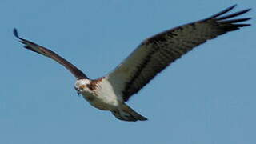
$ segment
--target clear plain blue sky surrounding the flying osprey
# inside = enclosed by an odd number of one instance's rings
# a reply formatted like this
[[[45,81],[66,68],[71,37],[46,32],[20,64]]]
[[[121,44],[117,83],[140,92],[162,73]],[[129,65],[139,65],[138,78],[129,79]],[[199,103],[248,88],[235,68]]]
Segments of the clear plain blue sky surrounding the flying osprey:
[[[98,78],[143,39],[228,6],[248,26],[199,46],[128,104],[149,118],[122,122],[90,106],[72,74],[14,38],[49,47]],[[255,0],[1,0],[1,144],[255,144]]]

